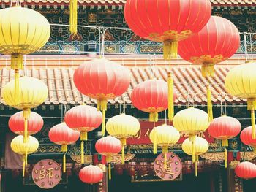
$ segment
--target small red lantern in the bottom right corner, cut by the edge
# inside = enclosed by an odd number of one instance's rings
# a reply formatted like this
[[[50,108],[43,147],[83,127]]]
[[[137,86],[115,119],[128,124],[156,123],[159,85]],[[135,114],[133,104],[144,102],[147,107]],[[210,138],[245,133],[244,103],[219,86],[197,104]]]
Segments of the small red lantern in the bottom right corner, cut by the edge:
[[[252,179],[256,177],[256,165],[244,161],[236,166],[235,173],[243,179]]]

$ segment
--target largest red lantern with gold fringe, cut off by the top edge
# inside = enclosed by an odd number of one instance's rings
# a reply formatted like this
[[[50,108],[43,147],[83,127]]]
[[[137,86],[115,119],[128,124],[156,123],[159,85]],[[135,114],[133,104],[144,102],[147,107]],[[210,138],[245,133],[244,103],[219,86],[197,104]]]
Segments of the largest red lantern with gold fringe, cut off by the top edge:
[[[176,58],[177,42],[200,31],[211,16],[208,0],[127,0],[124,18],[140,37],[164,43],[164,58]]]

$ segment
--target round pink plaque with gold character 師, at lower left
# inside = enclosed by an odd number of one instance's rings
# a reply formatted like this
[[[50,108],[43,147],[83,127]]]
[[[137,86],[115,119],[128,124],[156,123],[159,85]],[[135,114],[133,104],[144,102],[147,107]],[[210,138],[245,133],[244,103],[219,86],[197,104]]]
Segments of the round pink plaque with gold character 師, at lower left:
[[[51,159],[39,161],[34,165],[32,178],[39,188],[53,188],[61,180],[61,166]]]

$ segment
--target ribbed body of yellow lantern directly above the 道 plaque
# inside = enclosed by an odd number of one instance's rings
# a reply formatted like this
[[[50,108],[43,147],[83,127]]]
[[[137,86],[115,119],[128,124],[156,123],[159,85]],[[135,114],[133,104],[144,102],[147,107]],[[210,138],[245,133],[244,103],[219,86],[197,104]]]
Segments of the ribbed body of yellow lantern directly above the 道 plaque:
[[[157,126],[149,134],[151,142],[154,142],[154,136],[156,136],[157,145],[170,145],[176,144],[180,139],[180,134],[173,126]]]

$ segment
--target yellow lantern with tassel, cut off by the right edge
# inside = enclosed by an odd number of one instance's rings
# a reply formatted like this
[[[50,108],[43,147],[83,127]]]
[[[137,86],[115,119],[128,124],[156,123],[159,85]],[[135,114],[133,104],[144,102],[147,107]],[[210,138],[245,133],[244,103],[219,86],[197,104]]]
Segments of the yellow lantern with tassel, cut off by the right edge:
[[[225,88],[232,96],[247,99],[247,110],[251,111],[252,139],[255,134],[255,110],[256,110],[256,63],[246,63],[234,67],[227,73]]]

